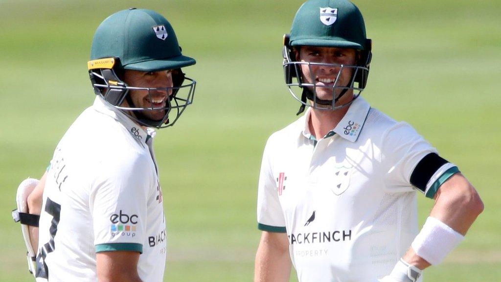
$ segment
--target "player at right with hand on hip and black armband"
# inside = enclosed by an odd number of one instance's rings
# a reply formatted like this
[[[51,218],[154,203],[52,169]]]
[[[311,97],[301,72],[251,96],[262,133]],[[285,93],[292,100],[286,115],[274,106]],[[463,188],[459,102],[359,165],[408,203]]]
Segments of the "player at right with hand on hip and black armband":
[[[301,282],[423,281],[483,210],[476,190],[409,124],[360,96],[372,41],[351,2],[304,3],[283,50],[298,114],[308,110],[264,150],[255,281],[288,281],[291,265]],[[417,191],[435,201],[421,229]]]

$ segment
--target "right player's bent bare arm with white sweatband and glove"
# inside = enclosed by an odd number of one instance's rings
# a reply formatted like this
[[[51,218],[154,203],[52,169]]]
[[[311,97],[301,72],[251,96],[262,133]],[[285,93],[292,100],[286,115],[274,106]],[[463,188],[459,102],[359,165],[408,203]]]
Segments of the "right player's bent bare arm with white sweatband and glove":
[[[440,263],[483,211],[473,186],[460,173],[440,186],[430,216],[411,247],[381,282],[414,281],[421,270]]]

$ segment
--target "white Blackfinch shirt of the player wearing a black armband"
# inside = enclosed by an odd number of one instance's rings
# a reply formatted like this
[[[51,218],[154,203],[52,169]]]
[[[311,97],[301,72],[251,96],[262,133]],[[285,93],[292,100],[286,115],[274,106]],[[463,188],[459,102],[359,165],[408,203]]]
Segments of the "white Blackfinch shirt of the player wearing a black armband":
[[[318,141],[309,131],[310,114],[308,109],[268,139],[258,227],[287,232],[301,282],[375,282],[391,272],[418,233],[410,177],[436,150],[362,97]],[[441,184],[435,182],[445,181],[440,176],[448,169],[457,171],[442,166],[428,182],[427,196],[433,198]]]

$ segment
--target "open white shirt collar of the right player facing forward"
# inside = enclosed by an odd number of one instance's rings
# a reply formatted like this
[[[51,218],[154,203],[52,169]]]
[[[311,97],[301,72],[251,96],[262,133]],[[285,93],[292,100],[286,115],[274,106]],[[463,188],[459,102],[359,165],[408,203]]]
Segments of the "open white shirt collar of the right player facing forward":
[[[335,133],[339,134],[341,137],[349,140],[350,142],[356,142],[358,136],[360,135],[360,132],[362,132],[362,128],[364,127],[365,120],[367,119],[367,115],[369,114],[369,109],[370,109],[369,103],[363,98],[363,97],[358,97],[356,98],[348,108],[348,111],[346,114],[343,116],[341,121],[332,129],[331,131],[327,132],[327,134],[324,136],[330,137],[334,135]],[[311,134],[310,132],[310,122],[311,118],[311,108],[308,108],[304,115],[304,121],[300,122],[303,124],[302,128],[302,134],[306,138],[309,138],[311,140],[316,140],[315,136]]]

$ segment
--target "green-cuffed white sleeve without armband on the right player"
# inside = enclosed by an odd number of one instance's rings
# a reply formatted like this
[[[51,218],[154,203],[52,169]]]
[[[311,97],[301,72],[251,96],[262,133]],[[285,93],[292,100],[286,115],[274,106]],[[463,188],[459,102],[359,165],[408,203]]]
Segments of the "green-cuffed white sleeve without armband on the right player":
[[[258,228],[270,232],[286,232],[284,213],[277,193],[277,183],[272,171],[273,145],[271,137],[263,153],[258,184]]]

